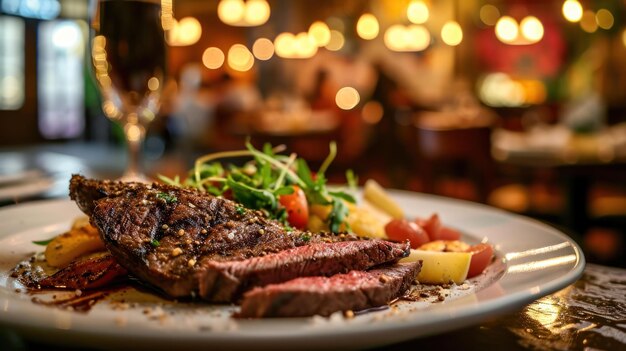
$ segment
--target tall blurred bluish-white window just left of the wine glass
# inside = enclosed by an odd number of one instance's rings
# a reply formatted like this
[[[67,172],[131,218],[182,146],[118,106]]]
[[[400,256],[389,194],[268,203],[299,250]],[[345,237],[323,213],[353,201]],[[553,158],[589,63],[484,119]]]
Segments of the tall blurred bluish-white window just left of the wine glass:
[[[39,25],[39,131],[47,139],[80,136],[85,128],[82,21]]]

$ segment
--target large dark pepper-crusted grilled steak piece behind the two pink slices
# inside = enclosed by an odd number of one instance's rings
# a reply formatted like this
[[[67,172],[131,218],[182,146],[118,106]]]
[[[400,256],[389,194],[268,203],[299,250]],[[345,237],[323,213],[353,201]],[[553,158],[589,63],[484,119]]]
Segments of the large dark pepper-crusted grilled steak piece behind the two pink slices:
[[[237,272],[234,279],[239,279],[236,277],[264,276],[263,272],[280,276],[283,271],[291,271],[284,273],[286,279],[291,279],[300,274],[294,275],[294,269],[306,272],[307,262],[316,259],[314,255],[301,253],[295,259],[301,262],[300,266],[285,267],[278,261],[271,263],[271,258],[258,259],[253,261],[254,268],[246,271],[241,266],[251,262],[245,261],[250,258],[272,257],[272,253],[316,243],[351,241],[361,247],[354,235],[286,230],[258,211],[246,210],[227,199],[192,189],[156,183],[95,181],[75,175],[70,182],[70,196],[90,215],[107,249],[124,268],[173,297],[199,292],[209,300],[223,301],[222,296],[235,297],[245,288],[276,282],[259,278],[254,284],[235,284],[233,290],[232,285],[228,285],[233,280],[224,278],[228,276],[226,272]],[[370,266],[397,260],[409,252],[406,244],[371,241],[369,245]],[[351,266],[360,261],[341,253],[343,249],[329,247],[325,250],[335,253],[336,270],[323,274],[345,272],[344,264],[347,269],[362,269]],[[376,250],[382,252],[376,253]],[[313,251],[304,250],[309,255]],[[231,261],[243,263],[239,266],[218,264]],[[314,273],[305,275],[311,274]]]

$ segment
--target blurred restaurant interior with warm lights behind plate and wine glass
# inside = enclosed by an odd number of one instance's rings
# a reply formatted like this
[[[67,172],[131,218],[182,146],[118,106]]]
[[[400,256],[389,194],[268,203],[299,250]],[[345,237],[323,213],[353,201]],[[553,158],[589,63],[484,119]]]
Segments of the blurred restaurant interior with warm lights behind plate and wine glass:
[[[330,178],[489,204],[625,266],[626,0],[161,0],[151,176],[285,144]],[[87,0],[0,0],[0,203],[117,178]],[[103,108],[104,106],[104,108]],[[28,182],[26,181],[28,180]],[[445,221],[445,218],[444,218]]]

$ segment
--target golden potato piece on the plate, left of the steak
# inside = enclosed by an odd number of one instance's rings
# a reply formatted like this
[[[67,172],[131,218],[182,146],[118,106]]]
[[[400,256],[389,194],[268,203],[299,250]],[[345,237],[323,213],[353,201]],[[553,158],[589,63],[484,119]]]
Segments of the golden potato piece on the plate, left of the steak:
[[[104,250],[104,243],[98,230],[87,224],[52,239],[44,254],[50,266],[63,268],[76,258],[99,250]]]

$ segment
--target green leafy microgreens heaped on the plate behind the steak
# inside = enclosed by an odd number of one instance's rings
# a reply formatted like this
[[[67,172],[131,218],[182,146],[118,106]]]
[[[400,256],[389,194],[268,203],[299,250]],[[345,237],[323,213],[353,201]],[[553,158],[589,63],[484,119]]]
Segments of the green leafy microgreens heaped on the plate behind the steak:
[[[246,142],[244,150],[218,152],[198,158],[184,182],[178,177],[159,178],[170,185],[192,187],[216,196],[232,198],[245,208],[261,210],[268,217],[277,219],[285,225],[287,212],[280,205],[278,198],[281,195],[292,194],[293,187],[297,185],[304,191],[309,205],[331,207],[327,224],[332,232],[347,229],[345,219],[349,208],[345,202],[354,203],[355,199],[346,192],[329,191],[326,187],[325,172],[337,155],[337,145],[334,142],[330,143],[330,152],[315,175],[306,161],[298,158],[296,154],[279,154],[283,150],[284,146],[272,147],[269,144],[259,150],[250,142]],[[220,162],[223,159],[234,161],[244,157],[252,160],[239,166]],[[349,171],[346,178],[350,187],[354,187],[356,184],[354,174]],[[243,214],[239,208],[237,213]]]

